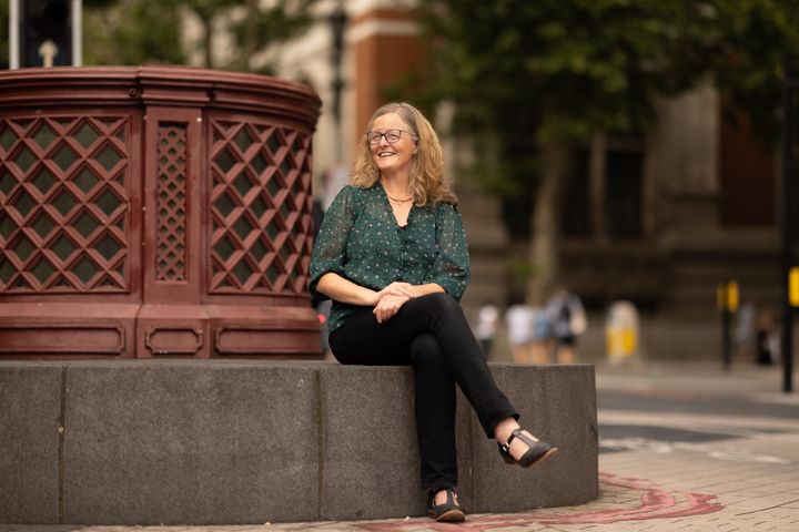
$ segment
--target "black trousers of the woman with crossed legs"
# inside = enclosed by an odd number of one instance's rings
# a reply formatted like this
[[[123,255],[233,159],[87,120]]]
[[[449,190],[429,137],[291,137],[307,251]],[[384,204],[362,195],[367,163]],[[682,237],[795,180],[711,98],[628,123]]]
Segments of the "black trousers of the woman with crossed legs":
[[[461,306],[446,294],[411,299],[383,324],[364,307],[331,334],[330,346],[342,364],[413,366],[423,488],[457,485],[455,382],[488,438],[499,421],[518,419],[494,382]]]

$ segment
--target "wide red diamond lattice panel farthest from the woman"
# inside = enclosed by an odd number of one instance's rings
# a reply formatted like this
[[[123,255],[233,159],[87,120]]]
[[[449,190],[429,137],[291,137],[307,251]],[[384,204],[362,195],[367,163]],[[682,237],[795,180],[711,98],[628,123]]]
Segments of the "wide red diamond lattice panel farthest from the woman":
[[[128,122],[0,119],[0,293],[128,291]]]

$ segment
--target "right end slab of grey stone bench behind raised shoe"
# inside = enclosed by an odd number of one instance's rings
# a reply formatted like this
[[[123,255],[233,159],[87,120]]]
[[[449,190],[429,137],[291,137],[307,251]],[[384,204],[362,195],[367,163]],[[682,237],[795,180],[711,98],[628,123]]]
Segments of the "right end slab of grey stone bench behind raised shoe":
[[[594,367],[492,365],[519,423],[558,452],[540,464],[505,464],[497,444],[473,423],[475,511],[568,507],[599,494]]]

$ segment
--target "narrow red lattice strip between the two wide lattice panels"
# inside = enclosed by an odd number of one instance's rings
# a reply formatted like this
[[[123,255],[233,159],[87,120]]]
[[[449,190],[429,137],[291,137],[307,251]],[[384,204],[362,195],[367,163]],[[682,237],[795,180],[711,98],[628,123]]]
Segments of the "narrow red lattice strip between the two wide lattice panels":
[[[186,125],[161,124],[158,142],[155,279],[185,280]]]

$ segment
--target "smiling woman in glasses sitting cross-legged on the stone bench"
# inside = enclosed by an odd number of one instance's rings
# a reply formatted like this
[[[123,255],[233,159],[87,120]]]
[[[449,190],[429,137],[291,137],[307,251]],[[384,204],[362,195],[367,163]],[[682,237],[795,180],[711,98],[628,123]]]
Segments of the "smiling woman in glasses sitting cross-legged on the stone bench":
[[[469,256],[443,167],[438,136],[416,108],[390,103],[375,111],[350,185],[320,228],[309,288],[333,299],[328,341],[341,364],[413,368],[428,514],[463,521],[456,385],[505,462],[529,467],[557,448],[522,429],[458,305]]]

